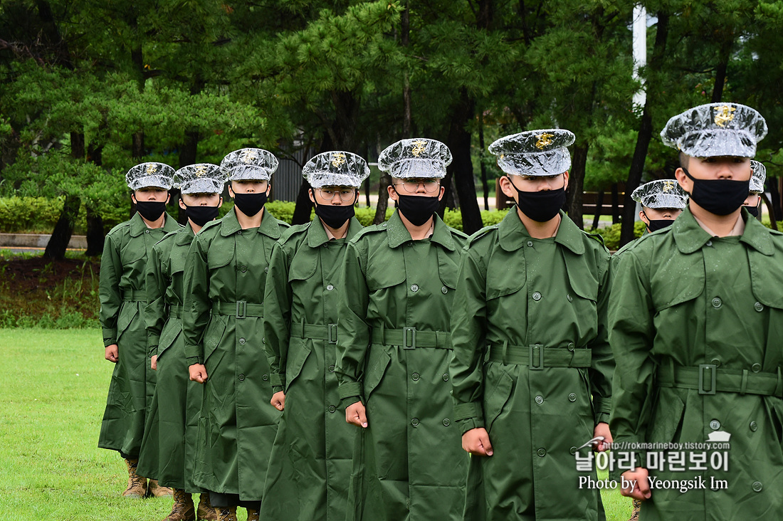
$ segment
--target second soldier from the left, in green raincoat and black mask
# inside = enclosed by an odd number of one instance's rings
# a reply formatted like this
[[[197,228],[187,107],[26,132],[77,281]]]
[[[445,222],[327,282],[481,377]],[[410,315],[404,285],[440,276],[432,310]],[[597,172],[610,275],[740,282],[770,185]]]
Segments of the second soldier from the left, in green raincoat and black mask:
[[[150,251],[146,269],[147,346],[157,383],[139,456],[139,473],[174,489],[174,505],[164,521],[197,518],[191,494],[193,450],[201,409],[201,387],[188,378],[185,337],[182,335],[182,276],[193,237],[218,216],[226,174],[218,165],[188,165],[174,174],[188,223],[168,233]],[[196,424],[196,425],[193,425]],[[184,443],[183,443],[184,441]],[[201,494],[198,519],[217,519],[209,494]]]

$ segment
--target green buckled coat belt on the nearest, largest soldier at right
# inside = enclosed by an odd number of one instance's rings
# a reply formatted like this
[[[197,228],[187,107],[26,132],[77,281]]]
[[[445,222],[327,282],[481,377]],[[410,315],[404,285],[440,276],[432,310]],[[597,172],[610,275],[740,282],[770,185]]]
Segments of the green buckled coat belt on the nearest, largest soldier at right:
[[[699,394],[739,393],[783,398],[780,367],[776,374],[716,367],[715,364],[699,364],[698,367],[664,364],[658,370],[658,385],[695,389]]]

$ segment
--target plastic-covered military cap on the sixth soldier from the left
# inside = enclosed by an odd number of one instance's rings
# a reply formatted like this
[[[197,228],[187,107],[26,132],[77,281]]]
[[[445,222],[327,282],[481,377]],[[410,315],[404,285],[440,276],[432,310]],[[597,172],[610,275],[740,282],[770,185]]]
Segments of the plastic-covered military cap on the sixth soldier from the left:
[[[497,165],[511,175],[558,175],[571,168],[568,145],[573,132],[562,128],[529,130],[504,136],[489,145],[497,156]]]

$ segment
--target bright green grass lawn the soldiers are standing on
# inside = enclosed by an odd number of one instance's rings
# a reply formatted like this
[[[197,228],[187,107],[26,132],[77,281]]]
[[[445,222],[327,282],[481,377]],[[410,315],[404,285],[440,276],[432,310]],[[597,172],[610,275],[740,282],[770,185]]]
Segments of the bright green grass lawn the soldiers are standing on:
[[[121,497],[124,462],[97,447],[112,371],[102,344],[99,329],[0,329],[5,521],[157,521],[168,514],[168,497]],[[610,521],[630,516],[630,500],[619,492],[604,493],[604,505]]]

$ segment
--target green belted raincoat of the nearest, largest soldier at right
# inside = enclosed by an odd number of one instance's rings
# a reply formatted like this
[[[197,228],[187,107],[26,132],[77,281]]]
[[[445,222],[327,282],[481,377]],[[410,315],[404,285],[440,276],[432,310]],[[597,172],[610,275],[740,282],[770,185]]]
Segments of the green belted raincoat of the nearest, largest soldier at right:
[[[658,450],[636,450],[655,479],[705,484],[654,485],[640,519],[783,519],[783,234],[745,210],[742,219],[742,236],[710,237],[687,209],[617,266],[615,443],[730,445],[675,448],[684,456],[665,453],[665,463]],[[725,487],[713,490],[713,479]]]

